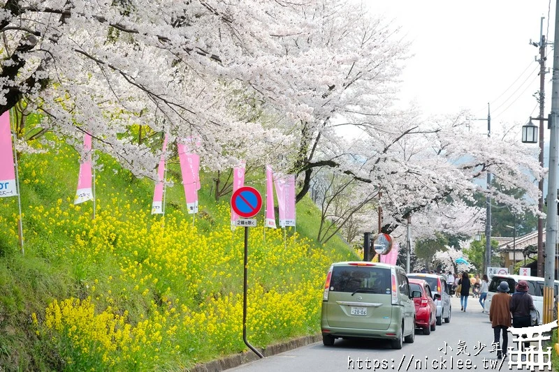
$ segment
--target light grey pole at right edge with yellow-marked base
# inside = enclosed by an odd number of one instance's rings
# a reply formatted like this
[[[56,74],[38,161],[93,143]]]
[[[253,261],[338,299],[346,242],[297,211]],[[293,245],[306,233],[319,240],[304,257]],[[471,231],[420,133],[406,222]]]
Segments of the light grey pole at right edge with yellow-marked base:
[[[547,186],[546,250],[544,272],[544,324],[553,321],[553,277],[557,246],[557,120],[559,110],[559,0],[556,0],[553,75],[551,78],[551,135],[549,137],[549,181]]]

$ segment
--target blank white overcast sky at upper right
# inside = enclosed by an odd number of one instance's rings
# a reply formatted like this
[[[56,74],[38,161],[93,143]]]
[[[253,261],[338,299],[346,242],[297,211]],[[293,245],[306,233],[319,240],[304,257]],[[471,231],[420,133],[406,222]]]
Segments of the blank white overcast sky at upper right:
[[[505,123],[526,124],[539,107],[532,96],[539,91],[539,49],[529,45],[543,32],[553,42],[555,1],[367,1],[375,13],[393,19],[412,42],[414,56],[402,75],[401,98],[415,101],[424,114],[445,114],[470,109],[487,117],[491,103],[491,131]],[[549,21],[549,29],[548,29]],[[547,47],[547,66],[553,48]],[[551,73],[546,75],[546,115],[551,108]],[[535,123],[537,124],[537,123]],[[486,131],[486,121],[472,127]],[[548,131],[546,131],[548,132]],[[546,137],[549,133],[546,133]]]

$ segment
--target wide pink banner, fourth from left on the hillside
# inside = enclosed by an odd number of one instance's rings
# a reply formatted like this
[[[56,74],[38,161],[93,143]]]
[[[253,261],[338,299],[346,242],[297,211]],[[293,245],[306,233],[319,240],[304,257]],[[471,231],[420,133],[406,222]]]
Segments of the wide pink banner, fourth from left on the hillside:
[[[198,190],[200,185],[200,156],[192,154],[185,144],[177,144],[182,173],[182,186],[187,198],[187,209],[189,214],[198,213]]]

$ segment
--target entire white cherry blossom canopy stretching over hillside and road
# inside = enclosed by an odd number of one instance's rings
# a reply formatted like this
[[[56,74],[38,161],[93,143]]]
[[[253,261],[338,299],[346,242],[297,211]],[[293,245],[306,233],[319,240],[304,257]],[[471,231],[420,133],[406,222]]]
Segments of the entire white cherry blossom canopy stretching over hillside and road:
[[[45,131],[82,140],[154,177],[160,146],[195,136],[205,170],[244,159],[299,174],[319,168],[376,195],[384,232],[407,217],[451,230],[475,192],[515,211],[537,200],[534,152],[470,133],[465,113],[425,117],[394,103],[407,58],[398,27],[347,0],[5,0],[0,3],[0,113],[22,101]],[[348,137],[349,134],[352,137]],[[154,147],[157,150],[154,150]],[[78,147],[79,148],[79,147]],[[489,188],[491,172],[502,190]],[[452,212],[451,212],[452,211]],[[458,220],[477,211],[465,209]],[[444,214],[440,214],[444,216]],[[449,218],[451,219],[451,218]],[[445,226],[446,225],[446,226]],[[474,225],[474,223],[472,223]],[[436,230],[437,226],[433,225]]]

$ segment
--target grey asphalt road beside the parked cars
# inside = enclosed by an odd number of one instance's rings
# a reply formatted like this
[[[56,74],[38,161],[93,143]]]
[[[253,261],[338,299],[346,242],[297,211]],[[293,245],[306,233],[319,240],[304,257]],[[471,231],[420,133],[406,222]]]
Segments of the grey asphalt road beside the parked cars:
[[[470,297],[462,312],[453,297],[451,321],[428,336],[417,330],[415,342],[404,343],[402,350],[385,341],[337,339],[331,347],[314,343],[228,371],[509,371],[509,359],[497,359],[492,343],[491,322],[478,299]],[[511,334],[509,346],[516,348]]]

